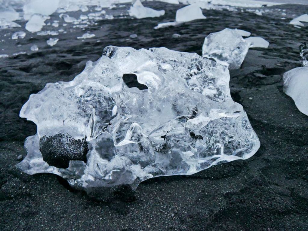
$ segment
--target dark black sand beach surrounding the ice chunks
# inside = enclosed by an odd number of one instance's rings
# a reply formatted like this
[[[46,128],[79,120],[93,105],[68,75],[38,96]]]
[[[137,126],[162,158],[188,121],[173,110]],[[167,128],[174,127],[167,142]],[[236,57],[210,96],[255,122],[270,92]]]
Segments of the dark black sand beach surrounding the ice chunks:
[[[288,22],[292,14],[307,13],[308,6],[270,7],[273,12],[263,16],[205,10],[208,19],[153,30],[157,23],[171,21],[180,6],[146,5],[167,13],[154,19],[101,21],[87,29],[95,38],[82,42],[75,38],[83,32],[68,32],[54,36],[59,38],[54,47],[46,44],[51,36],[34,34],[17,44],[27,50],[30,44],[45,44],[37,53],[0,59],[0,230],[308,230],[308,116],[282,90],[283,73],[301,65],[298,47],[308,35],[307,27]],[[286,9],[287,19],[280,19],[282,12],[275,8]],[[244,106],[261,141],[250,159],[188,177],[150,179],[135,196],[115,192],[109,202],[71,189],[55,175],[29,176],[14,168],[18,155],[26,155],[24,139],[36,131],[34,123],[18,117],[19,110],[47,82],[71,80],[107,45],[165,46],[201,54],[205,36],[226,27],[270,42],[268,49],[249,50],[241,69],[231,71],[232,97]],[[182,36],[172,38],[174,33]],[[130,34],[138,38],[130,39]],[[12,44],[6,50],[16,49],[16,42]]]

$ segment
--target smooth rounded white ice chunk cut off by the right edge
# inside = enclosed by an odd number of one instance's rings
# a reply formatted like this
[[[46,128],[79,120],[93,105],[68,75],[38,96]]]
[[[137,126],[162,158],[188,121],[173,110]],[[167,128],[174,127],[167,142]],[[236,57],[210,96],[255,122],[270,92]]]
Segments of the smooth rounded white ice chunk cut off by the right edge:
[[[283,75],[284,92],[290,96],[298,110],[308,115],[308,67],[297,67]]]

